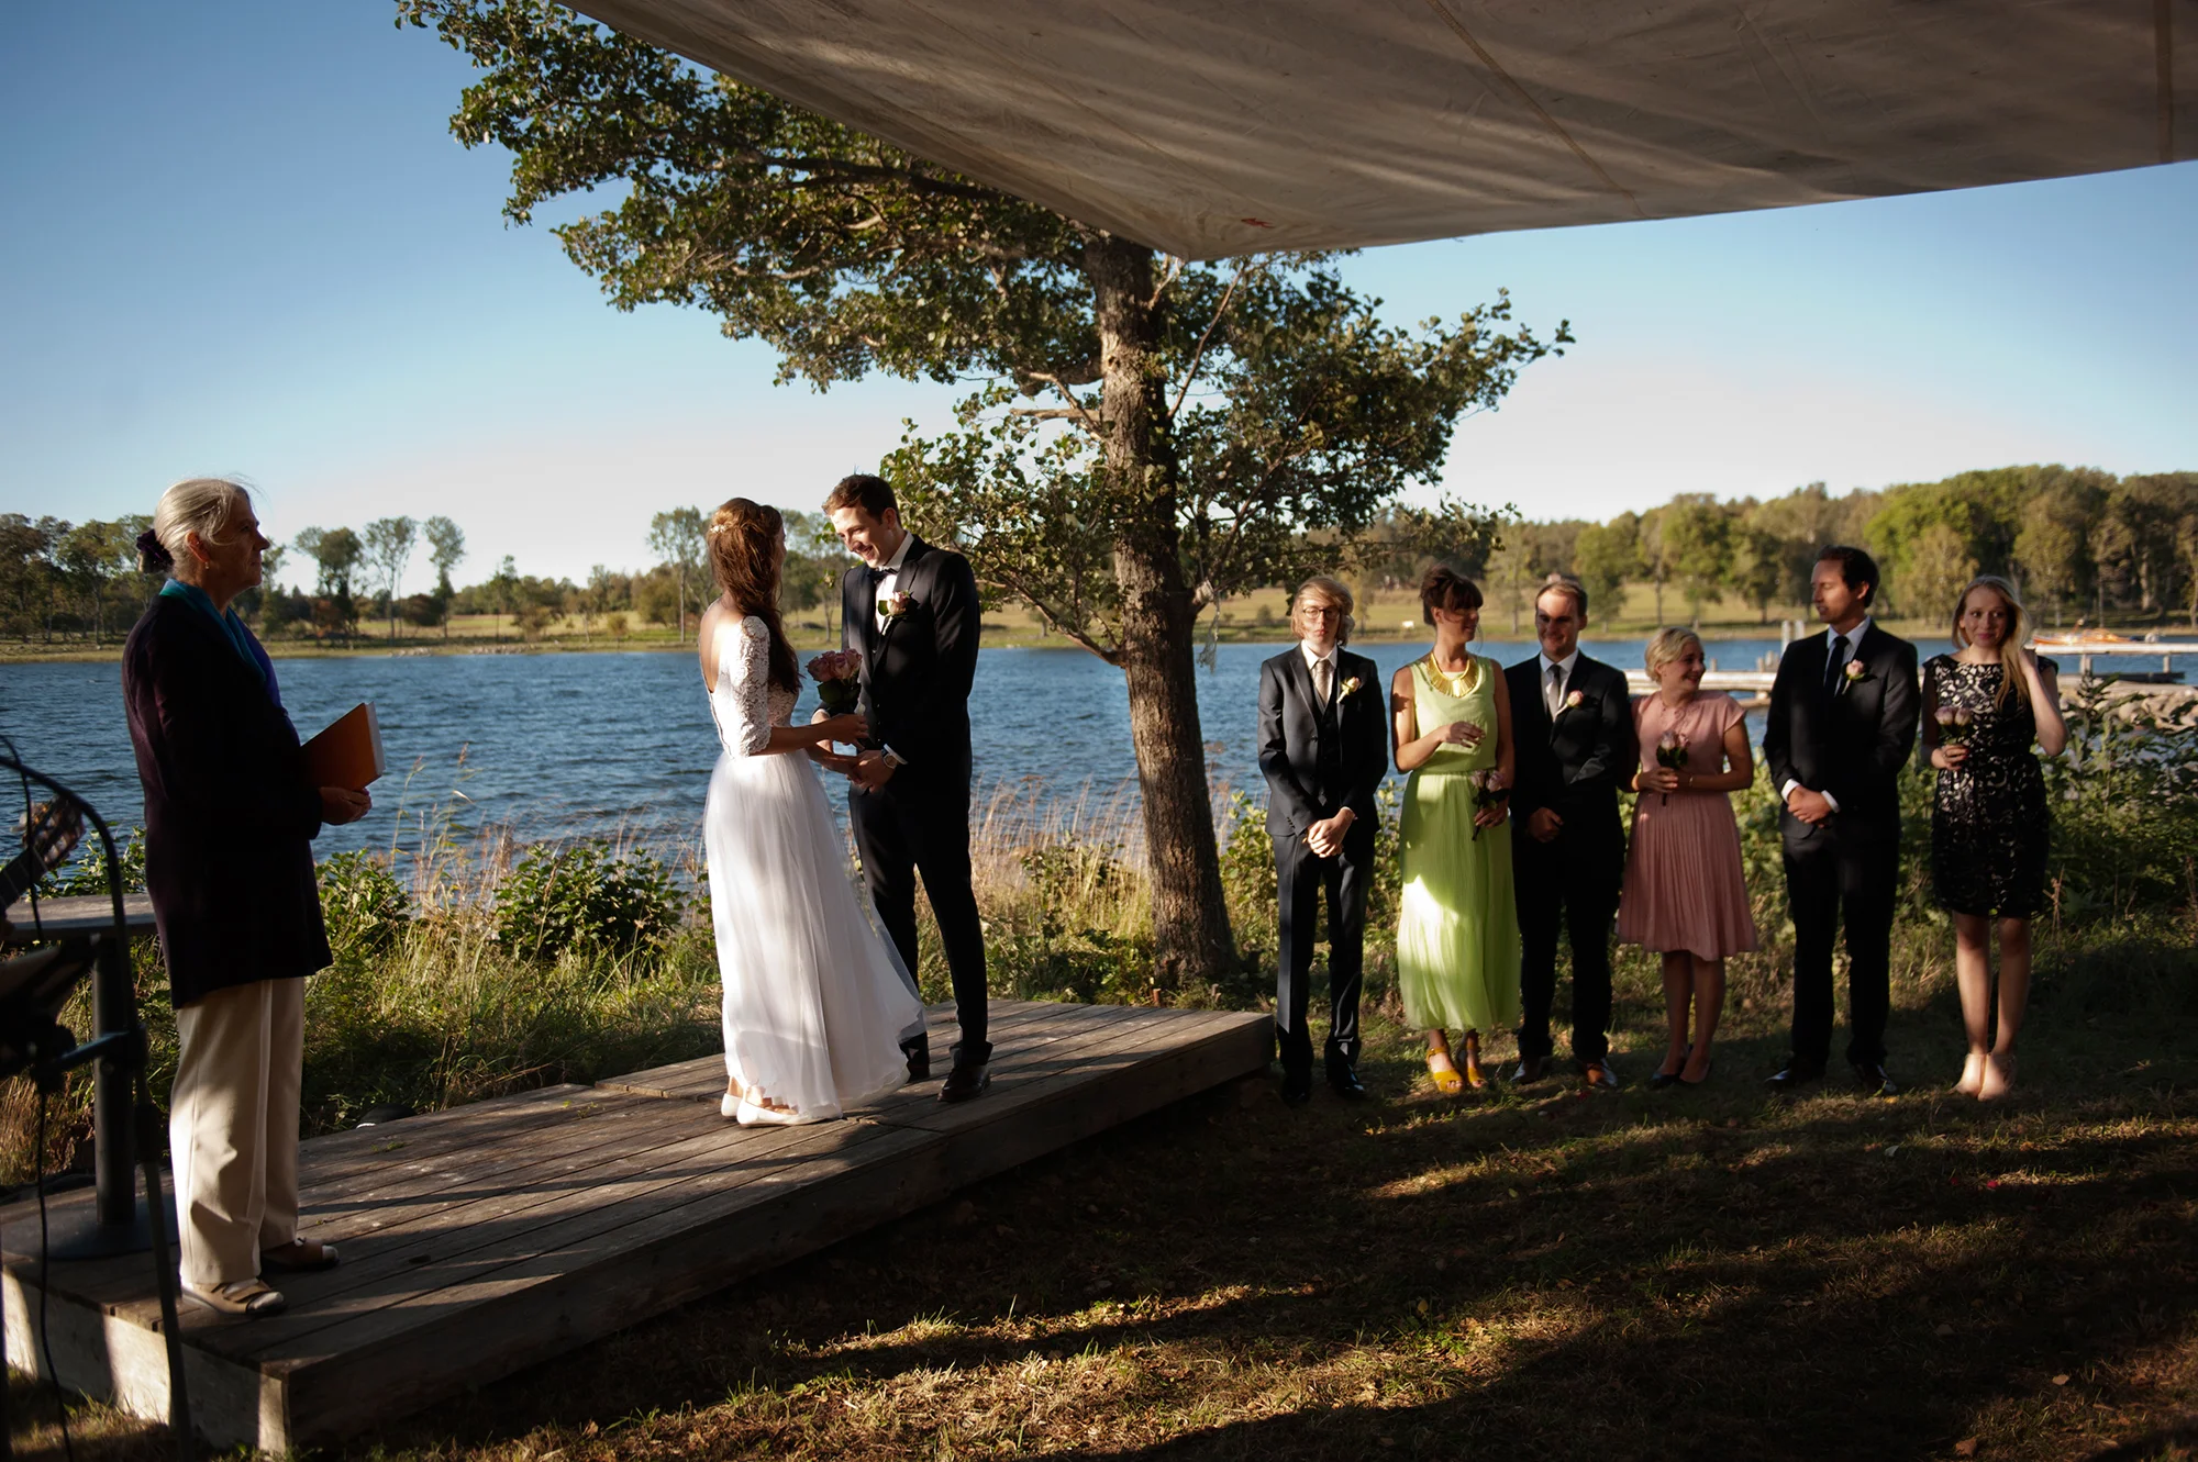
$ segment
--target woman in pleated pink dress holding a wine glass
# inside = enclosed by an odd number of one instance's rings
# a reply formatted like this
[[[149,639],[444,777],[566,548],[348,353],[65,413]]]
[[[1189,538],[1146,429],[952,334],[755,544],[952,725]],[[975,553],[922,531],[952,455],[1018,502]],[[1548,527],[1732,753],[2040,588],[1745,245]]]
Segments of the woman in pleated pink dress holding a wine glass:
[[[1710,1078],[1710,1038],[1725,1010],[1725,955],[1756,946],[1730,799],[1754,781],[1756,760],[1739,702],[1723,691],[1701,694],[1701,639],[1692,630],[1657,630],[1646,661],[1655,691],[1633,702],[1640,801],[1618,937],[1664,955],[1670,1047],[1648,1084],[1699,1087]]]

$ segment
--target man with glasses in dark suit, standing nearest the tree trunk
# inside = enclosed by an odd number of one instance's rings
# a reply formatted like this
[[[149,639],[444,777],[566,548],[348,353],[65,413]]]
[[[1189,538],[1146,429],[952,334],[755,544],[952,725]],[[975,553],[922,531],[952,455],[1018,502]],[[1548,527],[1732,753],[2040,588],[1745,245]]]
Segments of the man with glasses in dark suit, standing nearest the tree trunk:
[[[1374,876],[1374,790],[1389,771],[1389,724],[1374,661],[1343,650],[1352,593],[1328,575],[1290,601],[1299,641],[1259,665],[1259,771],[1266,832],[1275,839],[1281,975],[1275,1045],[1281,1100],[1312,1098],[1312,1032],[1306,1008],[1319,900],[1328,893],[1328,1084],[1363,1098],[1358,1080],[1358,983],[1365,968],[1367,880]]]

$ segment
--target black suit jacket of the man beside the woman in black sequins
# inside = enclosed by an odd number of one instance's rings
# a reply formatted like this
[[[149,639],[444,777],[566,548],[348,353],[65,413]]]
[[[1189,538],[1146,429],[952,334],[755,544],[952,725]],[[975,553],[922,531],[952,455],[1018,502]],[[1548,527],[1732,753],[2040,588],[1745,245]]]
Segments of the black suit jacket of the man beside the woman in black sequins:
[[[1824,661],[1831,641],[1818,632],[1796,639],[1778,661],[1772,681],[1772,711],[1763,727],[1763,762],[1772,790],[1798,781],[1811,792],[1831,792],[1838,832],[1897,836],[1901,828],[1901,764],[1917,744],[1917,648],[1873,621],[1855,661],[1862,678],[1824,694]],[[1785,797],[1780,795],[1780,801]],[[1816,830],[1783,812],[1787,841],[1805,841]]]

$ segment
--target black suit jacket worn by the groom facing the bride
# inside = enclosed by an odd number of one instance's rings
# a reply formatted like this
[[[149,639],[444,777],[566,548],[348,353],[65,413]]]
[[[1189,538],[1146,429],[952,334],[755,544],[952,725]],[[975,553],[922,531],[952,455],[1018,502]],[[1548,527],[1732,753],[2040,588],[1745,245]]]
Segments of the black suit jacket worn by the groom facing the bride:
[[[969,786],[969,687],[976,681],[980,601],[969,560],[914,533],[895,577],[914,608],[877,628],[870,571],[840,580],[840,643],[862,654],[862,713],[870,735],[908,760],[888,790],[919,784]]]

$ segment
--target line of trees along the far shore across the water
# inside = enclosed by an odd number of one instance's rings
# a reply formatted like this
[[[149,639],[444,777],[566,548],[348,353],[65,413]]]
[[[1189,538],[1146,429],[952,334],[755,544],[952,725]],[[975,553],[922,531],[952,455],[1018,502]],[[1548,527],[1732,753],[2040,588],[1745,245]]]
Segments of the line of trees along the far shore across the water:
[[[1427,562],[1424,522],[1396,509],[1367,536],[1354,577],[1409,584]],[[453,615],[510,621],[517,637],[552,623],[624,639],[642,623],[692,628],[712,597],[699,509],[651,522],[646,569],[596,564],[585,584],[521,573],[510,555],[466,586],[466,536],[451,518],[376,518],[358,529],[310,527],[266,553],[266,584],[237,608],[268,637],[349,643],[378,628],[389,639],[448,632]],[[0,634],[22,641],[108,643],[127,632],[158,580],[136,571],[145,518],[68,522],[0,514]],[[921,525],[919,525],[921,527]],[[1440,538],[1440,536],[1437,536]],[[1655,619],[1739,599],[1772,606],[1809,597],[1809,569],[1827,542],[1862,542],[1884,564],[1892,615],[1936,617],[1976,573],[2022,586],[2040,621],[2198,628],[2198,472],[2112,476],[2092,468],[1991,468],[1936,483],[1853,490],[1809,483],[1776,498],[1679,494],[1605,522],[1508,518],[1495,547],[1464,533],[1451,558],[1479,577],[1497,612],[1519,619],[1547,573],[1574,573],[1607,621],[1622,591],[1648,586]],[[418,553],[435,588],[400,595]],[[846,566],[822,514],[787,514],[785,606],[835,608]]]

